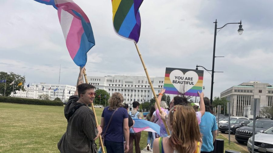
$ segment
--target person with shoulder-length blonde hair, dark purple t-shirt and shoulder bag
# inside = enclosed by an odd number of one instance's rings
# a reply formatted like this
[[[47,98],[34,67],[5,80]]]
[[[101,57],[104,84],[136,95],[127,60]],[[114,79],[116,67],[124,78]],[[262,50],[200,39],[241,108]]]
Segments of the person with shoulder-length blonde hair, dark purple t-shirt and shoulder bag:
[[[104,108],[100,126],[103,128],[104,144],[107,153],[124,153],[129,150],[128,112],[123,108],[123,96],[115,92],[109,99],[109,107]],[[115,113],[114,113],[115,111]],[[113,114],[114,113],[114,114]],[[110,118],[113,115],[111,121]],[[107,125],[110,122],[108,128]],[[107,128],[107,130],[106,130]],[[126,141],[123,146],[124,138]]]

